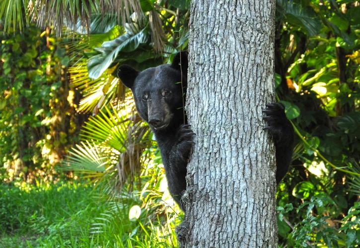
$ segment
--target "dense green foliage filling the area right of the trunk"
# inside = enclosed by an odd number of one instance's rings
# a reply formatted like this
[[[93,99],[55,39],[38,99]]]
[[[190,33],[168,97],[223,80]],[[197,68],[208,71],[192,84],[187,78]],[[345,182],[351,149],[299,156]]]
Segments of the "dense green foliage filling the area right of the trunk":
[[[277,90],[301,136],[277,192],[282,246],[359,242],[359,217],[348,216],[360,186],[357,10],[353,1],[277,0]]]

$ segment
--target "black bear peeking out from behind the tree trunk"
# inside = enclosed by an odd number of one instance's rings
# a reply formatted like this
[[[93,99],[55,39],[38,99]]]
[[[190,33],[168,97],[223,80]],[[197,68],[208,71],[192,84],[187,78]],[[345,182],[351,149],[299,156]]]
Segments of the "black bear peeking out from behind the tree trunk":
[[[140,117],[154,132],[161,151],[169,191],[185,210],[181,196],[186,189],[186,166],[193,144],[193,131],[184,114],[183,95],[187,87],[188,54],[178,53],[171,64],[137,71],[128,65],[118,69],[118,77],[134,95]],[[273,103],[264,110],[268,129],[276,145],[279,182],[291,161],[293,129],[285,116],[284,107]]]

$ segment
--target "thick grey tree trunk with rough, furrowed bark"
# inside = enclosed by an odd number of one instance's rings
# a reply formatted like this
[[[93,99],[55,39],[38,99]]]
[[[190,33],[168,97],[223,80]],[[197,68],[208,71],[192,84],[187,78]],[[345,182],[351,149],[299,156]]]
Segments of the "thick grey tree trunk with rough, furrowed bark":
[[[275,0],[192,0],[184,247],[277,247],[275,148],[262,110],[274,101]]]

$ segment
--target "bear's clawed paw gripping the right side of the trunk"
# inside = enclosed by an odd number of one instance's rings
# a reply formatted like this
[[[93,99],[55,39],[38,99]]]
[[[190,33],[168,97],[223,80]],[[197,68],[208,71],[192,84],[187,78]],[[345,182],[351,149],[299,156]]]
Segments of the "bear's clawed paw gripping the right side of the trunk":
[[[289,136],[292,135],[293,128],[286,118],[284,106],[280,103],[267,104],[263,113],[263,119],[268,124],[264,129],[269,130],[276,142],[286,143],[291,138]]]

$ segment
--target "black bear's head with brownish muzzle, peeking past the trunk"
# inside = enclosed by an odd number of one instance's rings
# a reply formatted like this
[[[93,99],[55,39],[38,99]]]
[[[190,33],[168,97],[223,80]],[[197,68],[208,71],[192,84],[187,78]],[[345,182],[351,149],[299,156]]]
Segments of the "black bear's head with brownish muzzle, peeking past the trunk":
[[[165,130],[184,123],[183,93],[186,92],[187,70],[188,53],[180,52],[171,64],[143,71],[122,65],[117,73],[133,92],[140,117],[154,130]]]

